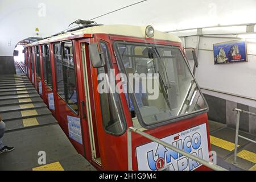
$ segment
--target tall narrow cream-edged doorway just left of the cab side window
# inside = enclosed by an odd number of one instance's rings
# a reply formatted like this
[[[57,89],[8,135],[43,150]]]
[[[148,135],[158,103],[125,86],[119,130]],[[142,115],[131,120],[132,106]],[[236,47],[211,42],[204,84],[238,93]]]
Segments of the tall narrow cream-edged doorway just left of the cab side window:
[[[84,78],[84,90],[85,90],[85,110],[86,110],[86,120],[88,123],[88,134],[89,134],[89,143],[90,151],[93,162],[101,166],[101,155],[100,148],[98,143],[98,131],[96,126],[96,118],[93,117],[94,113],[94,103],[93,103],[93,94],[92,94],[92,83],[89,78],[91,77],[90,72],[90,60],[88,54],[88,43],[81,43],[81,60],[82,60],[82,74]],[[86,136],[86,134],[84,134]]]

